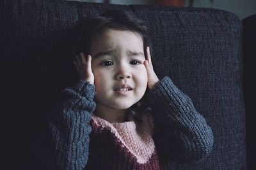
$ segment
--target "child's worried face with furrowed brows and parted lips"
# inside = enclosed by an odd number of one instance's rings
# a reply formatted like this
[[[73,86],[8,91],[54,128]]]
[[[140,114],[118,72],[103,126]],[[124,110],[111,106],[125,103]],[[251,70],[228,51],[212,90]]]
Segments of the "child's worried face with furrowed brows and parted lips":
[[[123,110],[143,97],[147,70],[138,33],[106,29],[93,38],[91,55],[97,105]],[[123,84],[129,84],[132,90],[116,91]]]

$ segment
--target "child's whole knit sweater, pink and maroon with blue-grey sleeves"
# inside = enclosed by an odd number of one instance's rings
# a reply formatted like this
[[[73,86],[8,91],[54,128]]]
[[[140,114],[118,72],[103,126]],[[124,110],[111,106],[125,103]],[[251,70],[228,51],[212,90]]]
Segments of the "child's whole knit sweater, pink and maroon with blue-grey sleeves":
[[[33,144],[36,169],[171,169],[211,153],[211,127],[169,77],[146,94],[152,112],[142,121],[109,123],[95,116],[94,91],[85,81],[63,90],[65,100],[47,118],[48,137]]]

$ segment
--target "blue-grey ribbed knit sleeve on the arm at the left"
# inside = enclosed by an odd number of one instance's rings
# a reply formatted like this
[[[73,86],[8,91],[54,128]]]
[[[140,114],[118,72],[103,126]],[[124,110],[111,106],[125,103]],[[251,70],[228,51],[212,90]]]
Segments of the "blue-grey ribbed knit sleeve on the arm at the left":
[[[89,154],[89,122],[95,109],[94,85],[78,81],[63,89],[65,100],[47,116],[47,133],[33,152],[38,169],[84,169]]]

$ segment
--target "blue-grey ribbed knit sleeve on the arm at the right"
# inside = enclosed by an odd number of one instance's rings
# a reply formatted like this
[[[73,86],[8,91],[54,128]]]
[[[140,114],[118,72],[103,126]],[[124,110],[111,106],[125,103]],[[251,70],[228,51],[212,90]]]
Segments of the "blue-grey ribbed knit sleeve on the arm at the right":
[[[164,77],[148,91],[147,101],[158,127],[154,133],[160,133],[156,140],[164,140],[161,142],[166,143],[164,150],[171,161],[200,162],[211,153],[214,143],[211,127],[170,77]]]

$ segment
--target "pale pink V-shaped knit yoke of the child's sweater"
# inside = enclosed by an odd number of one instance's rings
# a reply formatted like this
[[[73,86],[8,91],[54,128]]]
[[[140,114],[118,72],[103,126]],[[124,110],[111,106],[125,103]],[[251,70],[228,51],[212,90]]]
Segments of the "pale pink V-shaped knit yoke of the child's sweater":
[[[152,139],[154,125],[152,124],[152,118],[149,116],[145,114],[142,123],[137,123],[134,119],[124,123],[109,123],[93,114],[92,127],[95,127],[95,132],[93,129],[95,134],[92,133],[91,135],[99,135],[99,128],[100,130],[105,129],[114,135],[116,141],[122,143],[122,148],[126,148],[132,153],[139,164],[145,164],[155,151],[155,144]],[[103,140],[103,143],[105,143],[105,140]],[[96,147],[99,148],[99,146]],[[113,160],[116,162],[115,159]],[[97,160],[94,161],[97,162]]]

